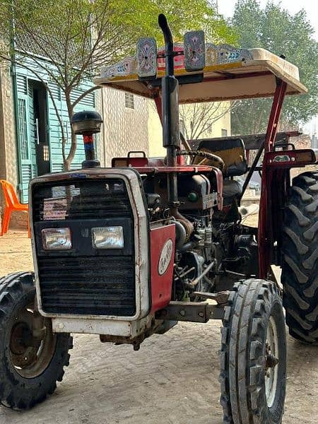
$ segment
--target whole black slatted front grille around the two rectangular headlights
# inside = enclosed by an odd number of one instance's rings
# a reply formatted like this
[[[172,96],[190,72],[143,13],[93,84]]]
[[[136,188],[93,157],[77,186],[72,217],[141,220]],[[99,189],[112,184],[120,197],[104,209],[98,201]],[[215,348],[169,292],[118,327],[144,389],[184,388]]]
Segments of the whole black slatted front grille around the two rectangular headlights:
[[[122,180],[35,185],[33,219],[45,312],[117,316],[136,313],[134,221]],[[95,249],[91,228],[118,225],[116,220],[122,220],[120,225],[128,235],[124,249]],[[45,251],[42,229],[65,226],[71,228],[71,251]]]

